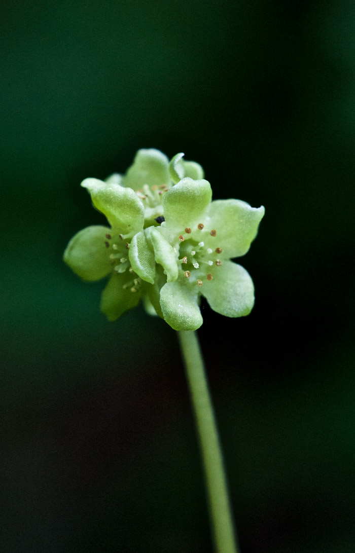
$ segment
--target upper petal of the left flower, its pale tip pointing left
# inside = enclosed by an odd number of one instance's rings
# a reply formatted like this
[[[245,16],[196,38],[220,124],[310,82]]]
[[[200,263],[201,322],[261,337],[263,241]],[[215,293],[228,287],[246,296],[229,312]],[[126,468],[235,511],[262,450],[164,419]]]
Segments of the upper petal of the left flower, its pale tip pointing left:
[[[85,179],[81,186],[88,189],[93,205],[119,232],[133,235],[143,228],[144,207],[132,189],[98,179]]]

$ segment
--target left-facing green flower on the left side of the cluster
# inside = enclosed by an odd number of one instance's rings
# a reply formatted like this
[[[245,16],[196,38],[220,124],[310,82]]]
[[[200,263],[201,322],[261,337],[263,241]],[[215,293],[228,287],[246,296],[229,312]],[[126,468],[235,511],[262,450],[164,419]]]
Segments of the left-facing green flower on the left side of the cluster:
[[[137,194],[115,182],[85,179],[81,186],[93,205],[107,218],[110,227],[91,226],[71,239],[64,261],[83,280],[109,276],[101,296],[101,311],[111,321],[138,305],[147,286],[131,267],[129,245],[143,229],[144,207]]]

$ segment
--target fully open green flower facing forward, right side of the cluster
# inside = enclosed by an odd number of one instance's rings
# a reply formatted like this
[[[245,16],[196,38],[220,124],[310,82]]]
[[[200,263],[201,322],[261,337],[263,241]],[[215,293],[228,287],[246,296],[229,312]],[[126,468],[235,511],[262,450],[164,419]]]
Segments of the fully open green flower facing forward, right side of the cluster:
[[[161,226],[134,237],[132,266],[143,280],[154,281],[159,311],[175,330],[201,326],[201,295],[227,317],[248,315],[254,305],[253,281],[231,258],[247,253],[264,207],[241,200],[211,202],[211,197],[208,181],[182,178],[163,197]]]

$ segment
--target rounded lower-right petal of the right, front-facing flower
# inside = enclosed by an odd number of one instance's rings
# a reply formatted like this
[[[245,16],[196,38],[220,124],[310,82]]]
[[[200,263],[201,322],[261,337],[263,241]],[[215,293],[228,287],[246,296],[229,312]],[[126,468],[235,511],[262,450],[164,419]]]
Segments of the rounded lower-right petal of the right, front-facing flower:
[[[253,309],[253,281],[246,269],[232,261],[216,267],[213,280],[203,283],[201,293],[214,311],[226,317],[243,317]]]

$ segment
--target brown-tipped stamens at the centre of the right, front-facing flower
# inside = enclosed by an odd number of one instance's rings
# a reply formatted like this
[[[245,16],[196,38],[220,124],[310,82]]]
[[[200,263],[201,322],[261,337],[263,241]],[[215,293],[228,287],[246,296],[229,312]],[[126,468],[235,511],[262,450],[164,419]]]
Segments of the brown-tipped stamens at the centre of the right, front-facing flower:
[[[208,232],[206,231],[206,229],[204,229],[205,225],[203,225],[203,223],[199,223],[197,225],[197,231],[203,231],[202,236],[203,234]],[[182,257],[182,259],[179,259],[179,264],[189,265],[184,273],[186,278],[191,278],[194,270],[198,269],[198,272],[196,271],[196,276],[198,275],[199,278],[196,278],[196,285],[202,286],[203,279],[206,278],[206,280],[209,281],[213,279],[213,275],[210,272],[207,272],[206,276],[203,275],[203,265],[207,265],[207,267],[212,267],[213,265],[216,265],[216,267],[220,267],[222,265],[222,260],[218,257],[218,255],[222,253],[222,248],[219,246],[214,249],[206,248],[205,242],[203,241],[200,241],[196,244],[197,241],[192,241],[191,237],[189,236],[191,232],[192,229],[190,227],[186,227],[185,232],[181,233],[179,236],[179,242],[181,242],[180,251],[184,254],[184,257]],[[215,228],[213,228],[211,231],[208,232],[208,234],[212,237],[216,237],[217,231]],[[194,234],[194,236],[196,236],[196,234]],[[192,242],[191,245],[190,242]]]

